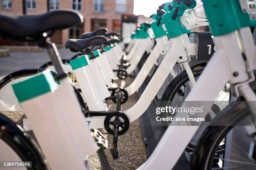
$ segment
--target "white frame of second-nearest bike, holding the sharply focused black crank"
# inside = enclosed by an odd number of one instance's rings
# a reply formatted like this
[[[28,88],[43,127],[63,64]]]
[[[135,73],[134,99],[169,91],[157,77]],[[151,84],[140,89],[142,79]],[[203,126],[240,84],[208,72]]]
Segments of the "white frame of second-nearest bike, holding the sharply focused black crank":
[[[125,114],[129,118],[130,122],[133,122],[138,117],[140,117],[143,112],[146,111],[148,106],[151,104],[151,101],[156,96],[157,92],[161,88],[161,85],[166,80],[166,77],[172,71],[174,65],[178,63],[183,63],[185,70],[189,74],[189,80],[192,85],[195,84],[195,78],[192,74],[192,71],[189,67],[189,55],[196,54],[196,44],[190,43],[187,34],[183,34],[179,37],[174,37],[170,39],[171,48],[167,52],[166,56],[162,60],[158,69],[156,70],[154,76],[148,83],[146,89],[143,94],[139,98],[138,102],[136,102],[133,107],[125,111]],[[182,59],[179,59],[182,56]],[[86,121],[90,121],[89,128],[104,128],[104,119],[105,116],[102,117],[86,117]]]

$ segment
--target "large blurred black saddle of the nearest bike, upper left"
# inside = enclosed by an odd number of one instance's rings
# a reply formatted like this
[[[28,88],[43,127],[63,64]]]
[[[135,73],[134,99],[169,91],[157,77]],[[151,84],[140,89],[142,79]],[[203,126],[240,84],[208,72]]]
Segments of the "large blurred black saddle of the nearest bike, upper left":
[[[41,15],[0,15],[0,37],[27,39],[50,30],[61,30],[84,22],[81,13],[53,10]]]

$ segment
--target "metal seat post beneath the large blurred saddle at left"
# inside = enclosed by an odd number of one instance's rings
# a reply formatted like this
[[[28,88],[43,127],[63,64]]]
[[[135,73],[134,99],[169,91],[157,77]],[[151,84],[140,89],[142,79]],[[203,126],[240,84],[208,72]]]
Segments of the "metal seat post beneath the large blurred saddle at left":
[[[59,55],[59,52],[58,52],[58,49],[55,45],[55,43],[52,43],[51,40],[49,38],[47,38],[45,40],[45,46],[46,46],[46,50],[48,52],[48,55],[50,56],[51,58],[51,61],[56,69],[56,72],[58,73],[58,77],[59,79],[61,78],[64,78],[67,76],[67,72],[65,72],[63,70],[63,67],[62,67],[62,60],[61,60],[61,57]]]

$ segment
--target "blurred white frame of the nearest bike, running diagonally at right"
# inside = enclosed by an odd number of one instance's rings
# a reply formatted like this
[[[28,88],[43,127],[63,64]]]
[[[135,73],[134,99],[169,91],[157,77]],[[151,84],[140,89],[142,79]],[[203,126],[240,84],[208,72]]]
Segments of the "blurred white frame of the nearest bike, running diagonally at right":
[[[240,93],[247,101],[256,101],[256,96],[248,85],[254,80],[254,77],[253,74],[251,74],[252,77],[248,77],[237,36],[241,37],[241,42],[244,45],[242,49],[246,54],[249,70],[256,69],[256,48],[250,28],[242,28],[237,32],[215,37],[214,42],[218,51],[208,62],[185,101],[214,101],[226,82],[235,85],[234,89],[237,95]],[[239,73],[237,77],[233,76],[235,71]],[[208,105],[204,105],[204,113],[210,110],[211,104],[208,103]],[[197,105],[186,105],[186,107],[197,107]],[[253,106],[251,108],[255,110]],[[180,114],[176,116],[180,116]],[[172,169],[198,128],[199,126],[169,126],[151,157],[138,169]]]

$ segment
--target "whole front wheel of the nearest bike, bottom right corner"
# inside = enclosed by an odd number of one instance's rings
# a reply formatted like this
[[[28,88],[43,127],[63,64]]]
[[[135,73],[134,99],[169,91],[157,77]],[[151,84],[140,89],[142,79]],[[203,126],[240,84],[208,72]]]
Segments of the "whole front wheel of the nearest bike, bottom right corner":
[[[253,116],[246,102],[233,102],[218,114],[203,132],[192,154],[191,170],[252,170],[256,168],[256,128],[248,122]],[[254,118],[255,120],[255,118]],[[246,123],[246,124],[244,124]],[[250,129],[250,134],[243,129]],[[234,137],[238,138],[234,138]],[[231,140],[232,139],[232,140]],[[233,140],[234,139],[234,140]],[[247,141],[248,145],[241,144]],[[218,152],[220,144],[222,151]]]

